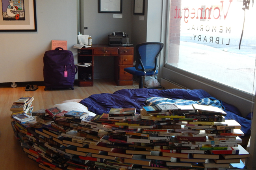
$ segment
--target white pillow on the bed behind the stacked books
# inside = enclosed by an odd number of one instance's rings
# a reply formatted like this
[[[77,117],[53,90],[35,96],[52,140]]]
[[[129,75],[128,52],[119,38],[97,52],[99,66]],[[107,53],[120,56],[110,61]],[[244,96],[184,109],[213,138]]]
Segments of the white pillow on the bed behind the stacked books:
[[[77,102],[66,102],[66,103],[59,103],[52,107],[58,107],[61,111],[82,111],[90,113],[91,116],[95,116],[96,114],[93,112],[88,111],[87,107],[82,105],[81,103]]]

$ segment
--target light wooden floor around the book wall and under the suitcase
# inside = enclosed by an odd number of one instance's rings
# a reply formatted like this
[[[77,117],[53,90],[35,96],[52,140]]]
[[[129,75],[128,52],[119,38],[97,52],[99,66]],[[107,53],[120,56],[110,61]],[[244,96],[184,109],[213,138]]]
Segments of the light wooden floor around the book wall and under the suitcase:
[[[34,110],[47,109],[63,100],[84,99],[92,94],[113,93],[121,89],[137,89],[135,86],[116,86],[113,80],[96,79],[93,87],[77,87],[74,90],[44,91],[44,86],[39,86],[36,91],[24,90],[24,87],[11,88],[0,86],[0,170],[42,170],[38,164],[28,158],[22,151],[20,143],[13,135],[11,127],[10,107],[21,96],[34,96],[32,105]]]

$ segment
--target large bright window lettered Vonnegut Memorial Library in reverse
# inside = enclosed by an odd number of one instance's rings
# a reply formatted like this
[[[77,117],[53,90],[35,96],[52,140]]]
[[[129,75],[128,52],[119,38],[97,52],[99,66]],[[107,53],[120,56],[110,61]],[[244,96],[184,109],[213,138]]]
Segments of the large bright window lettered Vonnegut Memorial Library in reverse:
[[[255,94],[253,3],[171,0],[166,65]]]

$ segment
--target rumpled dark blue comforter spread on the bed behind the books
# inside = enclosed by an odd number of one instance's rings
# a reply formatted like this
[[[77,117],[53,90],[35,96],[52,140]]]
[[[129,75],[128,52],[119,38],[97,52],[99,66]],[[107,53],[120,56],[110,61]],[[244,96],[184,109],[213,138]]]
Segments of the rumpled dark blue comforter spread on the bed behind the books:
[[[146,100],[152,97],[169,98],[169,99],[183,99],[199,101],[204,98],[210,98],[211,100],[217,100],[211,96],[208,92],[200,89],[185,90],[185,89],[168,89],[168,90],[156,90],[156,89],[122,89],[110,93],[93,94],[88,98],[83,99],[80,103],[85,105],[89,111],[102,115],[108,113],[111,108],[132,108],[135,107],[136,111],[140,113],[140,109],[146,106]],[[241,130],[245,135],[250,135],[251,120],[243,118],[239,110],[228,103],[221,103],[223,110],[227,113],[226,119],[234,119],[241,124]]]

